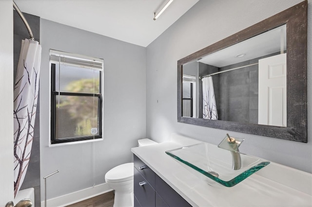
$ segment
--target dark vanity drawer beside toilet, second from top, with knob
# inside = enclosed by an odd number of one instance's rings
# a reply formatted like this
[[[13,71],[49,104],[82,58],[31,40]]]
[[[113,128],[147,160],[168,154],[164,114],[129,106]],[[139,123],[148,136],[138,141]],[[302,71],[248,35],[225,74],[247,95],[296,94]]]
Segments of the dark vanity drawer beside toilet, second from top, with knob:
[[[134,192],[140,206],[155,207],[155,190],[136,168],[134,168]]]

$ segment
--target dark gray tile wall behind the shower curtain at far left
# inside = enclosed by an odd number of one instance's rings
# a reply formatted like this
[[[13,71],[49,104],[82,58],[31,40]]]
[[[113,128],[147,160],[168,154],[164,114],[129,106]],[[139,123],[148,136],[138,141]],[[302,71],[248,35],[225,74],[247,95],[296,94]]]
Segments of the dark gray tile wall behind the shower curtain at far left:
[[[23,13],[32,29],[35,40],[39,41],[40,37],[40,17]],[[20,58],[21,40],[29,39],[28,31],[20,19],[20,16],[14,11],[14,79]],[[40,42],[40,41],[39,41]],[[38,99],[39,100],[39,99]],[[35,131],[33,145],[30,155],[28,170],[25,175],[24,182],[20,190],[34,188],[35,189],[35,205],[40,207],[40,126],[39,126],[39,108],[37,104]]]

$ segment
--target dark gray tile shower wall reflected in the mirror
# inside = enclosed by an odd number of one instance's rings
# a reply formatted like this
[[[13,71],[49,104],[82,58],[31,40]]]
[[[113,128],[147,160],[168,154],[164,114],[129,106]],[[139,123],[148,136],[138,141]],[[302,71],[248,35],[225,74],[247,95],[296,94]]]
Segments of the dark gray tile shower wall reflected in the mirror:
[[[219,71],[254,64],[276,54],[279,52],[225,66]],[[219,120],[258,123],[258,65],[220,73],[213,80],[219,90],[219,96],[215,95]]]

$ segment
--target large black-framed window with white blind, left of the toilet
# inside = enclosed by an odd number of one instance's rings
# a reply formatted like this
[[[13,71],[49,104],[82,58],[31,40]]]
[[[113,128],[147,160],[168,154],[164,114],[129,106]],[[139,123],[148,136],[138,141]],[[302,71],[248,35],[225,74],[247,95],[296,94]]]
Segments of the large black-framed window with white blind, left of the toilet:
[[[51,144],[102,138],[103,60],[50,50]]]

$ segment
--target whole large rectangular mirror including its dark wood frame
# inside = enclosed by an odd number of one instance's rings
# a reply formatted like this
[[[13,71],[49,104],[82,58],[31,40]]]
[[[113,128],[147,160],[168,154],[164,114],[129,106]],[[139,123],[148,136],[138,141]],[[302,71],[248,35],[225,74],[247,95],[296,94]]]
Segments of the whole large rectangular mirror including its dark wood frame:
[[[307,142],[307,1],[178,61],[178,121]]]

